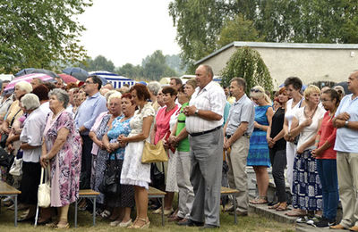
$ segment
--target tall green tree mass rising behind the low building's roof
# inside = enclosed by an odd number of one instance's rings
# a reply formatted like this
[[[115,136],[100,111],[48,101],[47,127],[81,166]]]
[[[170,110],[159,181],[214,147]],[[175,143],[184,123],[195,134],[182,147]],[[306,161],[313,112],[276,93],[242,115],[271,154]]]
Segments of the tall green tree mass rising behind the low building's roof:
[[[174,0],[169,14],[177,28],[183,64],[193,71],[193,62],[228,43],[217,44],[217,38],[226,33],[224,22],[236,21],[239,14],[243,22],[236,29],[252,21],[259,38],[267,42],[356,44],[357,5],[358,0]]]

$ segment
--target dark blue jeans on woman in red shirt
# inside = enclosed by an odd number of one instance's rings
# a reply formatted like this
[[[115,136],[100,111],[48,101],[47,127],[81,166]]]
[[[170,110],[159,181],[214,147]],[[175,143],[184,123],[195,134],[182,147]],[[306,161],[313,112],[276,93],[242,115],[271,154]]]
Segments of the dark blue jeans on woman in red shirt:
[[[317,170],[322,184],[323,217],[335,220],[338,206],[337,161],[317,159]]]

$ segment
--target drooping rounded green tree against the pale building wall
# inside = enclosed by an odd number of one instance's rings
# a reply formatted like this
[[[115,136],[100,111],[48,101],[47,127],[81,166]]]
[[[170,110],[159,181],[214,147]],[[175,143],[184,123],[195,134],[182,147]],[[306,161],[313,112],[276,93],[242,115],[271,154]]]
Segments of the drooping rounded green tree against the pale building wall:
[[[246,80],[246,93],[249,94],[251,87],[261,86],[272,91],[272,79],[268,67],[260,57],[260,54],[248,46],[237,49],[230,57],[226,67],[221,73],[222,85],[228,86],[230,80],[239,77]]]

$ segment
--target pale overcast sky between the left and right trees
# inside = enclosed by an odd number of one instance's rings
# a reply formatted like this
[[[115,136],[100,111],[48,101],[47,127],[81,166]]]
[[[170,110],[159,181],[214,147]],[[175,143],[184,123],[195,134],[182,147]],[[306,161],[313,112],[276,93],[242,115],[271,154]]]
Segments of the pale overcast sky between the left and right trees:
[[[156,50],[179,54],[176,29],[168,13],[169,0],[93,0],[79,15],[87,29],[81,45],[92,59],[104,55],[115,67],[141,60]]]

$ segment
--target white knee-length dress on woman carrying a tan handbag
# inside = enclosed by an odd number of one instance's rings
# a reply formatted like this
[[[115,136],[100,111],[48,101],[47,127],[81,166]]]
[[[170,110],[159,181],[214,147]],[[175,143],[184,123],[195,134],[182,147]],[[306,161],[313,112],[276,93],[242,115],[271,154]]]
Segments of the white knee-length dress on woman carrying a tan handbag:
[[[134,112],[130,121],[131,133],[128,137],[141,134],[143,119],[155,116],[156,112],[150,103],[144,104],[143,109]],[[146,139],[149,142],[149,137]],[[128,143],[125,147],[124,163],[121,172],[121,184],[131,186],[143,186],[149,188],[150,183],[150,163],[141,163],[144,140]]]

